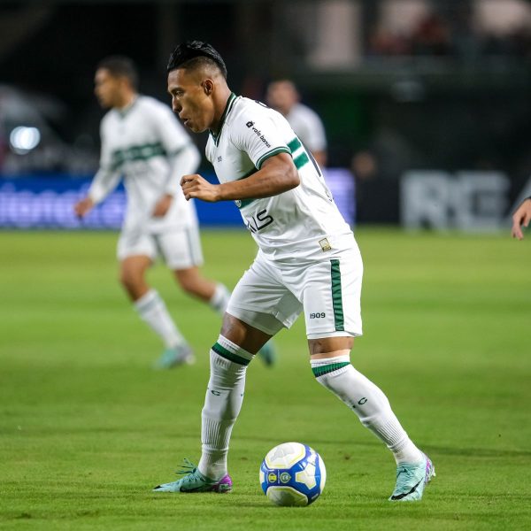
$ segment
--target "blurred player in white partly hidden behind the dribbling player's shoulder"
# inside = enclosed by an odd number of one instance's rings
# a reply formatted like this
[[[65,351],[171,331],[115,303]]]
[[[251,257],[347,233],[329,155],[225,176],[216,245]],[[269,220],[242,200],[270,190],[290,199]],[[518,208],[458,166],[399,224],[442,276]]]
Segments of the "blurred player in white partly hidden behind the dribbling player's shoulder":
[[[327,165],[327,136],[317,112],[300,103],[295,83],[289,80],[272,81],[267,86],[266,101],[288,120],[304,147],[312,152],[321,168]]]

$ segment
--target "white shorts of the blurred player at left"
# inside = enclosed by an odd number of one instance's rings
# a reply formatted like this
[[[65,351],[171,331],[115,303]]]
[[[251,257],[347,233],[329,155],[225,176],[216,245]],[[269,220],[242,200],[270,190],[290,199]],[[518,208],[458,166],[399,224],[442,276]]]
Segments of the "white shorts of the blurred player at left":
[[[118,259],[121,261],[138,255],[149,257],[152,261],[160,256],[165,265],[173,271],[202,266],[203,251],[199,229],[185,227],[160,234],[123,231],[118,241]]]

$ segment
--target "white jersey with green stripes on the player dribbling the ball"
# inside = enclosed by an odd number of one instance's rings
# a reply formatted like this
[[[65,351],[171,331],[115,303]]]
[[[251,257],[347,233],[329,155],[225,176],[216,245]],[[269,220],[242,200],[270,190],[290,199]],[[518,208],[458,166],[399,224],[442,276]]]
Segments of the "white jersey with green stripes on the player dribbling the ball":
[[[235,202],[260,250],[269,259],[300,264],[350,249],[350,227],[288,121],[264,104],[231,94],[219,134],[211,132],[206,145],[219,181],[245,179],[282,152],[293,158],[300,185],[278,196]]]

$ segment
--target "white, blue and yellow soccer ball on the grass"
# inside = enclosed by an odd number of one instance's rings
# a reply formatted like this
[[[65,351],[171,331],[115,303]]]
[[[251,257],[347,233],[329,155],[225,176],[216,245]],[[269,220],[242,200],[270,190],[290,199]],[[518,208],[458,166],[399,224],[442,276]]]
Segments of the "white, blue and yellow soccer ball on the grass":
[[[260,466],[262,490],[277,505],[312,504],[326,481],[324,461],[306,444],[279,444],[267,453]]]

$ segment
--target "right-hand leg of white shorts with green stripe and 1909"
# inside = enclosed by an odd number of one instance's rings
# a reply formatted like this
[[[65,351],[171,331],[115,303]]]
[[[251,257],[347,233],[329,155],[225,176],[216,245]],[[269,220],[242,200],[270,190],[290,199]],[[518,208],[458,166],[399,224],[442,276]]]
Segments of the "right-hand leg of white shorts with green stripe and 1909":
[[[362,277],[358,250],[345,251],[304,271],[299,285],[308,339],[362,335]]]

